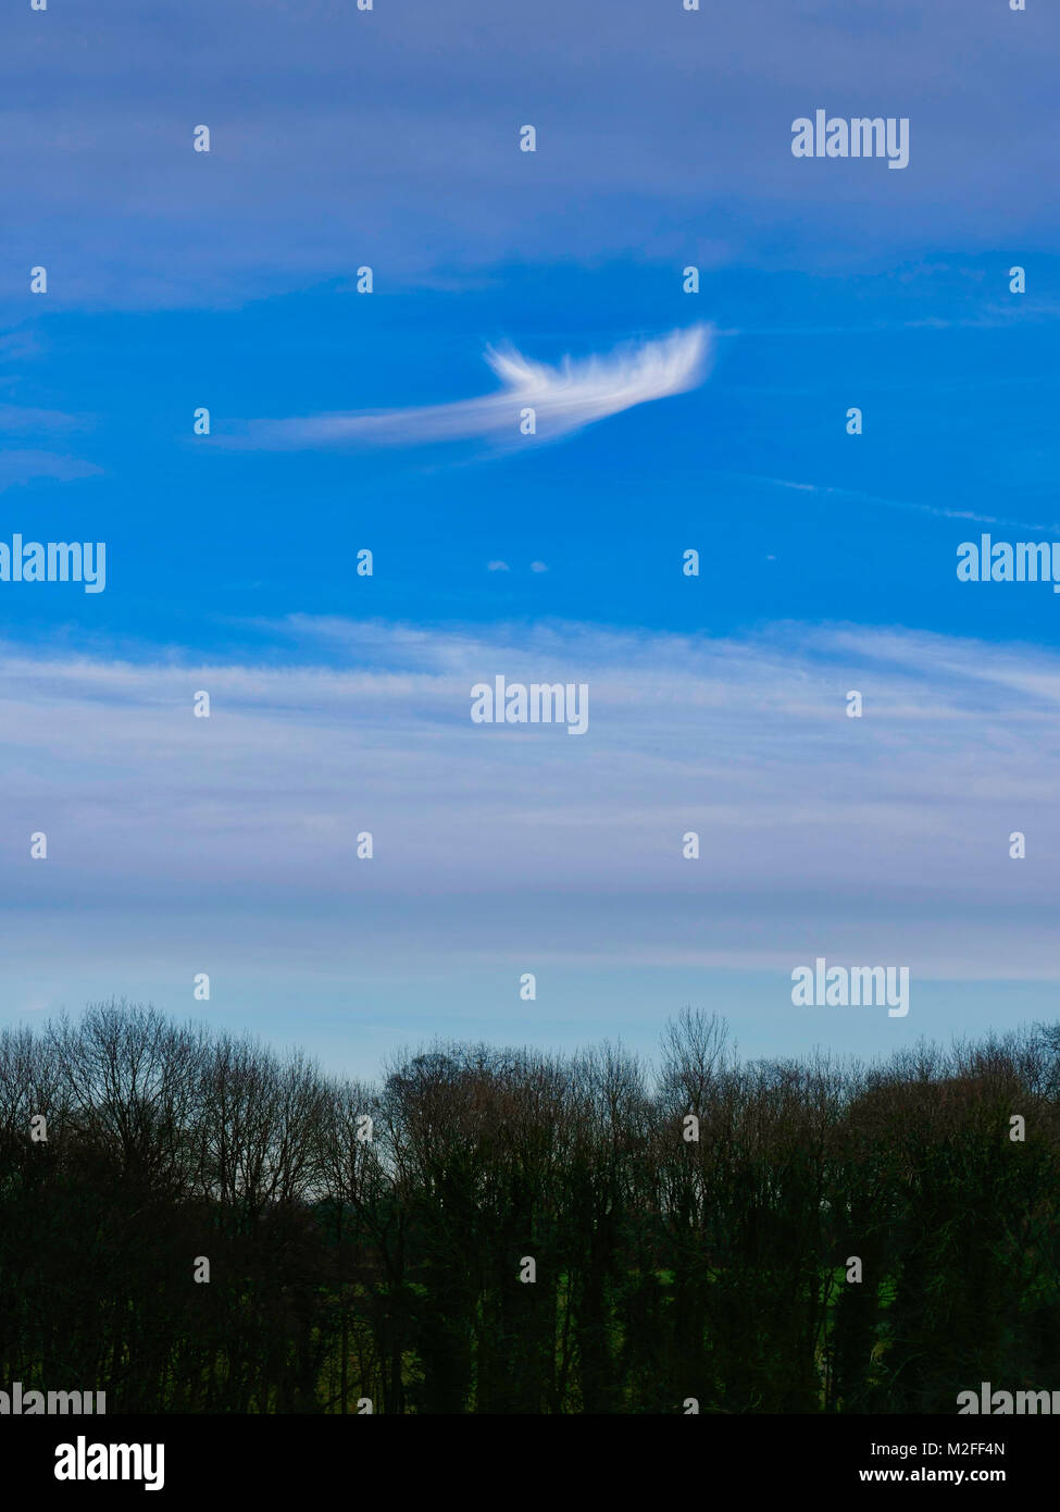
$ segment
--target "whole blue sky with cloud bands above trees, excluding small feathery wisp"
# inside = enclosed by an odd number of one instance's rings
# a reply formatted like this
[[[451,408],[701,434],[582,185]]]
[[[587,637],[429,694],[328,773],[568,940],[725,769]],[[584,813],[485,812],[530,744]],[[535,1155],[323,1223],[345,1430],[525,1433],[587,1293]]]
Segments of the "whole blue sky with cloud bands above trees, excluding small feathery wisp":
[[[104,540],[107,587],[0,584],[3,1015],[127,993],[360,1074],[650,1052],[685,1002],[749,1054],[1052,1016],[1060,602],[956,579],[1060,537],[1028,5],[8,17],[0,538]],[[909,168],[794,159],[818,106],[909,116]],[[697,324],[702,384],[558,442],[245,445]],[[473,726],[496,673],[587,680],[587,736]],[[909,965],[909,1016],[794,1009],[817,954]]]

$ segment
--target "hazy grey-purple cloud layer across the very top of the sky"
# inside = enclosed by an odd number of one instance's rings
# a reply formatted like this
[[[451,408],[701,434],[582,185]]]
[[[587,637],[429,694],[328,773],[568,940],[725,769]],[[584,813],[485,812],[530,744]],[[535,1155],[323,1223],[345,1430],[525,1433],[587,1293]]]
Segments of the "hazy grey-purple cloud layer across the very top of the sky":
[[[228,0],[210,8],[209,56],[180,8],[156,9],[130,26],[124,0],[97,0],[91,45],[53,27],[53,88],[36,86],[41,29],[5,38],[5,256],[33,266],[42,225],[53,243],[77,239],[50,305],[240,304],[346,280],[360,248],[390,289],[422,290],[514,263],[674,269],[690,249],[700,266],[862,271],[871,246],[894,268],[924,246],[993,254],[1000,216],[1006,245],[1055,243],[1048,6],[998,29],[1007,8],[903,0],[882,29],[872,6],[814,5],[807,24],[806,6],[764,0],[715,8],[712,27],[646,27],[643,0],[609,0],[600,27],[594,8],[537,0],[523,27],[496,0],[449,0],[419,6],[413,35],[402,8],[377,6],[369,27],[331,0]],[[954,27],[951,94],[938,74]],[[216,101],[207,160],[178,124],[189,71],[203,104]],[[854,76],[916,121],[915,177],[889,175],[903,181],[888,192],[854,162],[800,174],[786,151],[806,80],[838,100]],[[1012,144],[977,107],[987,95],[1000,118],[1027,121],[1033,172],[1013,180]],[[520,100],[547,119],[531,162],[516,159]],[[367,141],[351,192],[349,144]]]

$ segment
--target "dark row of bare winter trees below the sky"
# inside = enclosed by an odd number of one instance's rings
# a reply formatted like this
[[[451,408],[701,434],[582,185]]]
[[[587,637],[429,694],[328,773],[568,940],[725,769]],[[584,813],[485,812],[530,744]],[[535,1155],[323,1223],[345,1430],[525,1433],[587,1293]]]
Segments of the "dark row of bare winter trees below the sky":
[[[375,1086],[124,1002],[8,1030],[0,1388],[454,1414],[1051,1390],[1058,1104],[1060,1025],[741,1063],[685,1012],[650,1080],[609,1045],[449,1045]]]

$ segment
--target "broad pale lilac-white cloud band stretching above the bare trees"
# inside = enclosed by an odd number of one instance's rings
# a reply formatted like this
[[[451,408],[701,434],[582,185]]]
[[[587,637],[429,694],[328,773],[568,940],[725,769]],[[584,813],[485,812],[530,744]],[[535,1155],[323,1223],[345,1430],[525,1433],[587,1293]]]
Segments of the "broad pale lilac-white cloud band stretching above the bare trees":
[[[141,937],[180,960],[296,939],[336,977],[532,947],[1057,978],[1055,653],[857,626],[287,629],[301,665],[0,658],[5,957],[39,909],[71,963],[103,943],[129,962]],[[472,724],[497,673],[587,682],[587,735]],[[292,990],[307,969],[277,963]]]

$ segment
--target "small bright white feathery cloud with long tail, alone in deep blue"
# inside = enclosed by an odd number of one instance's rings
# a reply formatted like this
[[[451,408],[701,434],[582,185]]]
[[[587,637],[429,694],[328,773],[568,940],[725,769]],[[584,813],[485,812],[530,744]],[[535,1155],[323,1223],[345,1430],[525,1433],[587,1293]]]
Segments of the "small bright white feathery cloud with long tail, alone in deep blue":
[[[528,408],[534,411],[535,437],[555,440],[634,405],[696,389],[706,376],[711,349],[712,331],[706,325],[621,346],[606,357],[564,357],[558,367],[531,361],[514,348],[487,348],[485,360],[501,380],[494,393],[410,410],[251,420],[234,443],[307,449],[520,440],[520,419]]]

